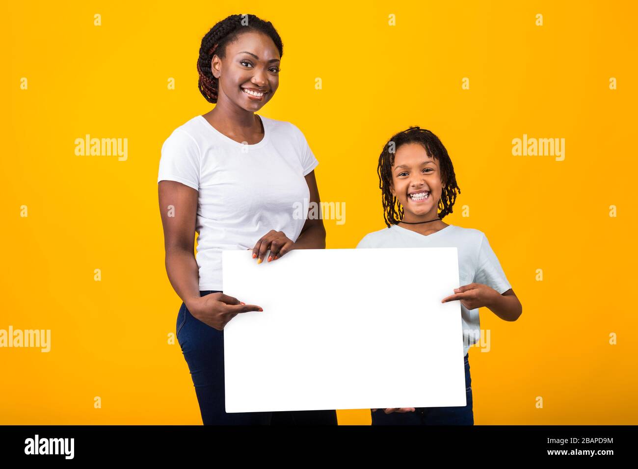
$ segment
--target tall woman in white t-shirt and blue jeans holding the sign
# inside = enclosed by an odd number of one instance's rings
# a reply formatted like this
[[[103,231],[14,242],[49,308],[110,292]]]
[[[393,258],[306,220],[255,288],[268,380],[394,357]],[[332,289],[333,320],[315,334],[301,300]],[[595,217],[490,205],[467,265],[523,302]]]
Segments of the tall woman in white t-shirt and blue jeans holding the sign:
[[[276,262],[291,249],[325,248],[321,219],[293,217],[295,202],[320,203],[318,161],[306,138],[291,123],[255,114],[278,88],[282,54],[277,31],[255,15],[232,15],[213,26],[202,39],[197,70],[200,92],[216,106],[179,126],[162,146],[166,267],[182,299],[176,336],[204,424],[337,423],[334,410],[225,412],[224,326],[262,309],[222,292],[221,251],[253,249],[260,263],[267,251],[267,262]]]

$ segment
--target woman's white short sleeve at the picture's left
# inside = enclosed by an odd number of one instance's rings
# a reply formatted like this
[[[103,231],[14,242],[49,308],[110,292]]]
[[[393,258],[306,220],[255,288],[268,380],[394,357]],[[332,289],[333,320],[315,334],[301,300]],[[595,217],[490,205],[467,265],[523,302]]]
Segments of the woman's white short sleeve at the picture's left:
[[[175,129],[164,141],[159,159],[159,181],[177,181],[199,190],[200,151],[188,133]]]

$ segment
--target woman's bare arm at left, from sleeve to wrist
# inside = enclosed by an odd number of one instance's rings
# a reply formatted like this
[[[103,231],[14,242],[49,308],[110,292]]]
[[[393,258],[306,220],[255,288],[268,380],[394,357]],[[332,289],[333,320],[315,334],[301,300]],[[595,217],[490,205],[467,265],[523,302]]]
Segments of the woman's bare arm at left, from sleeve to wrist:
[[[159,181],[158,191],[168,280],[188,308],[200,298],[195,260],[198,191],[177,181]]]

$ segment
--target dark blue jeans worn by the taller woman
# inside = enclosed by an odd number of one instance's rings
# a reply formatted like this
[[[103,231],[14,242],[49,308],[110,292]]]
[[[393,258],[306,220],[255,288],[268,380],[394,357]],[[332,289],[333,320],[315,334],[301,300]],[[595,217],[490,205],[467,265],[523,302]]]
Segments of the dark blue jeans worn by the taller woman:
[[[218,293],[205,290],[200,296]],[[224,389],[224,332],[191,315],[182,302],[175,337],[195,385],[204,425],[336,425],[334,410],[226,413]]]

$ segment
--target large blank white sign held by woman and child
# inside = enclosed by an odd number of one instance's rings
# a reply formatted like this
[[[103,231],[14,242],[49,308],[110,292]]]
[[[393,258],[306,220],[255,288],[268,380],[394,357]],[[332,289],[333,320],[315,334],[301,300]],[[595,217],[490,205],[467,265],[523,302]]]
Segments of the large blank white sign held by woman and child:
[[[465,406],[456,248],[223,251],[226,412]]]

